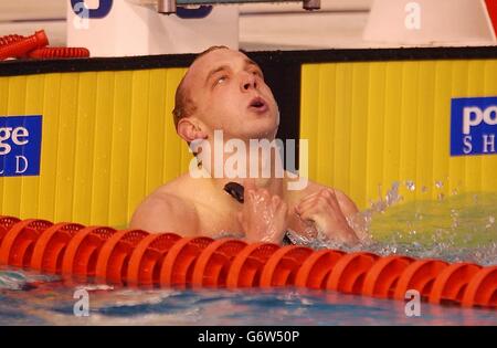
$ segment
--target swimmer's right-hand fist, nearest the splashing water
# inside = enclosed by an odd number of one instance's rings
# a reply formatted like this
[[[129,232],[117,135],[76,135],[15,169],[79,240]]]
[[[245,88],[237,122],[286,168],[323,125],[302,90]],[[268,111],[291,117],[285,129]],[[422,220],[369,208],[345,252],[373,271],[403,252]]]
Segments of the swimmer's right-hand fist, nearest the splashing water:
[[[355,245],[359,242],[356,232],[349,226],[332,189],[321,189],[307,196],[295,207],[295,212],[302,220],[314,222],[316,229],[331,241],[347,245]]]

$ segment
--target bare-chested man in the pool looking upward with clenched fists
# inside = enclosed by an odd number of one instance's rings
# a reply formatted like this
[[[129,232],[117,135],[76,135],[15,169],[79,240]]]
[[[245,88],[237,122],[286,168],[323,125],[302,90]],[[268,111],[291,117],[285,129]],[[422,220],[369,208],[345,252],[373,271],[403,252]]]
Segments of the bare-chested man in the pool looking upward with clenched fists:
[[[188,144],[207,141],[211,148],[214,130],[222,129],[223,141],[272,141],[279,124],[277,104],[258,65],[242,52],[224,46],[207,50],[190,65],[176,92],[173,117],[182,139]],[[199,170],[212,173],[213,162],[205,160],[210,152],[202,147],[201,155]],[[260,162],[261,168],[281,164],[277,155],[260,161],[266,161]],[[310,180],[300,190],[288,190],[292,180],[275,175],[199,178],[190,171],[147,197],[133,215],[130,228],[213,238],[242,232],[247,242],[278,244],[287,230],[307,238],[319,231],[340,244],[359,242],[347,221],[358,210],[343,192]],[[230,181],[243,183],[243,204],[223,190]]]

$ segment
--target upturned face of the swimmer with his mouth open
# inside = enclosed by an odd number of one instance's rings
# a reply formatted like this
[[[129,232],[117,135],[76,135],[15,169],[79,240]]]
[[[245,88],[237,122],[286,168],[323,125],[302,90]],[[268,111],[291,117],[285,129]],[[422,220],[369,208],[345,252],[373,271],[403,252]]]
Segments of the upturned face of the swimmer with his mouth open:
[[[186,88],[197,106],[193,116],[224,138],[268,138],[276,135],[279,113],[271,88],[253,61],[239,51],[219,49],[189,68]]]

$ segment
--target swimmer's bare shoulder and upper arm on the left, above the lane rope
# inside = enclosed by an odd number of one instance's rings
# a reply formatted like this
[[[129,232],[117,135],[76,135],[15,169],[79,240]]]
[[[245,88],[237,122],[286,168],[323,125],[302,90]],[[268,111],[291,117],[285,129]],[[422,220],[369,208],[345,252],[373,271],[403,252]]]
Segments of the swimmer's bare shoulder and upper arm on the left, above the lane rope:
[[[130,229],[148,232],[173,232],[180,235],[199,234],[199,217],[192,203],[169,193],[148,197],[135,211]]]

